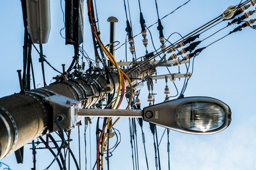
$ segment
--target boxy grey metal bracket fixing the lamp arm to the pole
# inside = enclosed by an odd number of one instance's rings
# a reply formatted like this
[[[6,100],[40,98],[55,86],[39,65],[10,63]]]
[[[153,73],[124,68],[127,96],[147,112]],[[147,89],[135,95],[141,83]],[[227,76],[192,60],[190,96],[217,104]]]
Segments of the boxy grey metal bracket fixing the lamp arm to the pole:
[[[72,129],[81,120],[76,113],[77,108],[81,108],[81,102],[74,99],[70,99],[65,96],[50,96],[45,99],[49,101],[53,109],[53,121],[56,117],[61,117],[60,126],[62,129]],[[53,122],[53,131],[58,131],[59,128]]]

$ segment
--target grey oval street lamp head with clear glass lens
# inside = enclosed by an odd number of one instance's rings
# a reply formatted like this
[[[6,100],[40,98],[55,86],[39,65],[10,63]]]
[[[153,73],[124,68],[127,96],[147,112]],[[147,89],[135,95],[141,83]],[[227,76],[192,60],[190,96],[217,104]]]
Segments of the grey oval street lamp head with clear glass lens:
[[[143,120],[189,134],[213,134],[231,122],[227,104],[211,97],[184,97],[143,109]]]

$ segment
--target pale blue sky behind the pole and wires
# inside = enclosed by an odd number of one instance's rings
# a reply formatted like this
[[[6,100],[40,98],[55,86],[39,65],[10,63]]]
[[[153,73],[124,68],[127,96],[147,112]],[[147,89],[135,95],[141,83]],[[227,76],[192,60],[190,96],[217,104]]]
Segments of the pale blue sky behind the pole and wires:
[[[167,13],[173,11],[180,4],[186,1],[164,1],[159,0],[159,16],[163,17]],[[61,1],[51,1],[51,33],[49,41],[43,46],[44,54],[52,66],[61,70],[61,64],[70,64],[72,60],[72,46],[65,45],[65,39],[60,36],[60,29],[63,27],[63,15],[60,8]],[[63,3],[63,2],[62,2]],[[109,43],[109,23],[107,18],[115,16],[118,18],[116,24],[116,40],[120,44],[125,42],[125,11],[123,1],[109,0],[108,2],[98,0],[97,11],[100,25],[100,36],[103,43]],[[138,1],[130,1],[132,29],[134,34],[140,32],[140,11]],[[204,25],[215,17],[218,17],[230,5],[239,4],[239,1],[200,1],[191,0],[186,6],[183,6],[172,15],[164,18],[162,24],[164,27],[164,36],[168,37],[172,32],[179,32],[182,36],[195,30],[200,25]],[[0,1],[0,73],[1,83],[0,97],[8,96],[15,92],[19,92],[19,81],[17,69],[22,69],[22,45],[24,41],[24,25],[22,22],[22,11],[20,1]],[[147,25],[151,25],[157,21],[156,6],[154,1],[141,0],[141,10]],[[253,10],[251,7],[250,10]],[[84,6],[84,50],[93,56],[92,35],[90,25],[88,24],[86,6]],[[255,18],[254,15],[252,18]],[[227,22],[222,22],[216,27],[200,36],[203,39],[219,29],[225,27]],[[227,27],[218,34],[212,36],[202,42],[198,48],[209,45],[213,41],[228,34],[237,25]],[[160,46],[158,39],[158,31],[156,25],[150,27],[152,38],[157,47]],[[63,32],[65,34],[65,32]],[[152,41],[148,38],[148,51],[152,52]],[[171,42],[175,42],[180,37],[175,34],[170,38]],[[180,132],[170,131],[170,167],[171,169],[255,169],[256,168],[256,115],[255,115],[255,30],[246,27],[241,32],[236,32],[227,36],[221,41],[214,43],[206,48],[198,57],[195,58],[193,76],[189,80],[188,87],[184,93],[185,97],[189,96],[209,96],[220,99],[230,106],[232,110],[232,122],[225,131],[211,135],[192,135]],[[137,56],[145,55],[145,48],[142,45],[142,37],[137,36],[135,48]],[[42,87],[42,71],[38,63],[38,55],[33,50],[33,64],[35,67],[36,87]],[[116,60],[125,58],[125,46],[115,52]],[[131,60],[131,54],[128,51],[128,60]],[[56,76],[56,72],[48,66],[46,69],[47,84],[52,82],[52,77]],[[170,68],[172,73],[177,73],[178,68]],[[186,73],[184,66],[180,67],[182,73]],[[157,74],[167,74],[166,69],[157,69]],[[177,80],[177,87],[182,89],[183,79]],[[173,84],[168,81],[171,95],[175,95],[176,91]],[[159,80],[154,85],[154,92],[157,94],[156,103],[164,101],[164,80]],[[147,103],[147,85],[141,90],[140,101],[141,107],[148,106]],[[122,104],[125,108],[126,103]],[[129,139],[129,120],[122,119],[116,124],[116,129],[122,134],[122,141],[111,157],[111,169],[132,169],[131,145]],[[81,131],[81,147],[82,156],[81,164],[84,168],[84,141],[83,141],[83,125]],[[150,169],[156,169],[154,166],[154,146],[152,134],[148,124],[145,122],[143,130],[146,136],[147,155]],[[164,128],[157,127],[159,136],[163,134]],[[90,169],[90,151],[92,157],[92,165],[95,162],[95,119],[93,124],[86,131],[86,139],[90,138],[91,147],[87,142],[87,169]],[[57,138],[57,137],[56,137]],[[160,138],[160,137],[159,137]],[[71,147],[78,159],[78,142],[77,128],[72,132]],[[115,139],[114,139],[115,140]],[[166,152],[166,134],[159,146],[161,153],[161,167],[168,168],[168,155]],[[115,141],[113,141],[115,143]],[[138,128],[138,143],[140,169],[145,169],[145,156],[143,145],[141,142],[141,130]],[[43,146],[43,145],[40,145]],[[12,153],[8,157],[1,160],[8,164],[12,169],[30,169],[32,167],[31,145],[26,145],[24,150],[24,164],[17,164],[15,155]],[[36,166],[38,169],[44,169],[53,159],[51,153],[47,150],[37,150]],[[106,162],[106,160],[104,160]],[[4,166],[0,167],[3,168]],[[51,169],[56,169],[58,165],[55,163]],[[74,167],[74,164],[72,164]],[[106,167],[106,166],[105,166]]]

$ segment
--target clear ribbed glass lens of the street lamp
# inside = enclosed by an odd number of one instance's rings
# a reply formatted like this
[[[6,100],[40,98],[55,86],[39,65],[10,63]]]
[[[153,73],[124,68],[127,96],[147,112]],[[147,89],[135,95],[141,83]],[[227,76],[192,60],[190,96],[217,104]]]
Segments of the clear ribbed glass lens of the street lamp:
[[[212,131],[225,123],[225,111],[214,103],[186,103],[179,108],[176,123],[183,129]]]

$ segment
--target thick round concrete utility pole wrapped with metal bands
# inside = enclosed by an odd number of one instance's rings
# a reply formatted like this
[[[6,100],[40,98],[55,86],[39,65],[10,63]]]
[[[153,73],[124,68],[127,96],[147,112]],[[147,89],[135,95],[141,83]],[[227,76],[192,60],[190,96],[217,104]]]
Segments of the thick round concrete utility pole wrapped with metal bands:
[[[127,74],[134,85],[138,80],[154,73],[152,66],[145,65]],[[111,84],[118,87],[118,74],[110,73]],[[125,80],[125,87],[128,81]],[[106,90],[107,89],[107,90]],[[38,136],[53,129],[53,108],[45,97],[59,94],[82,101],[83,108],[90,108],[104,99],[107,94],[115,93],[108,89],[104,73],[86,74],[82,78],[52,83],[47,87],[29,90],[2,97],[0,99],[0,159],[15,152]]]

